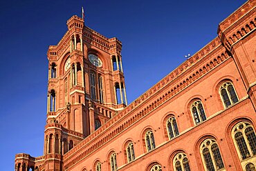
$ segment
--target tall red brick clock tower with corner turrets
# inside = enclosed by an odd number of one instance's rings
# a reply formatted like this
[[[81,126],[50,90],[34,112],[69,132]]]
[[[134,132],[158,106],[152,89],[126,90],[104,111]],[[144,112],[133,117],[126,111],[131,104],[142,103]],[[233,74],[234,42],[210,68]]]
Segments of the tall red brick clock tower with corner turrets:
[[[122,43],[84,26],[77,16],[67,26],[47,52],[46,156],[65,154],[127,105]],[[51,161],[49,168],[61,169],[57,159]]]

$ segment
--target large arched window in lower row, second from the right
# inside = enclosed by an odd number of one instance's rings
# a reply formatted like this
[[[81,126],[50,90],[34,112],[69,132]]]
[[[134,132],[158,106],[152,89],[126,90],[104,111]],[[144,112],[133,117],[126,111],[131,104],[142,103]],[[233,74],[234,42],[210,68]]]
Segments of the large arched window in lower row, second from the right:
[[[224,169],[221,153],[214,139],[205,139],[201,143],[200,152],[205,170],[215,171]]]

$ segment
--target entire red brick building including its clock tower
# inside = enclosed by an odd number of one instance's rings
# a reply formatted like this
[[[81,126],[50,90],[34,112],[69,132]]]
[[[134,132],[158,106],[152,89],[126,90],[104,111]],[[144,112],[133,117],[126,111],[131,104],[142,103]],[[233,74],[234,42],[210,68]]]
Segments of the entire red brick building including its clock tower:
[[[255,6],[129,105],[122,43],[71,17],[47,53],[44,155],[15,170],[255,170]]]

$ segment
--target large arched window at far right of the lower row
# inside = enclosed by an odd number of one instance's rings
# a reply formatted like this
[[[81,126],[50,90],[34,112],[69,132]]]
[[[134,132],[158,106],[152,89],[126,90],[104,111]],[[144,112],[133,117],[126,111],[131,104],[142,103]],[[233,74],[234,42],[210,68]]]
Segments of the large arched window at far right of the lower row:
[[[253,125],[246,121],[237,123],[232,129],[232,139],[242,165],[256,161],[256,136]]]

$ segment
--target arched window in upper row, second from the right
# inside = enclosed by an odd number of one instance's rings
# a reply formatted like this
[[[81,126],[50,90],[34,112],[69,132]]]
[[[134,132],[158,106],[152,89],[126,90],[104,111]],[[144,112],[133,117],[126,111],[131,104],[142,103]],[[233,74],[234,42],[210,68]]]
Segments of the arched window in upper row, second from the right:
[[[203,109],[203,104],[201,101],[194,101],[194,103],[192,103],[191,113],[194,118],[194,123],[196,125],[206,120],[205,111]]]

